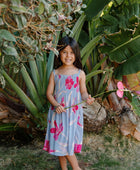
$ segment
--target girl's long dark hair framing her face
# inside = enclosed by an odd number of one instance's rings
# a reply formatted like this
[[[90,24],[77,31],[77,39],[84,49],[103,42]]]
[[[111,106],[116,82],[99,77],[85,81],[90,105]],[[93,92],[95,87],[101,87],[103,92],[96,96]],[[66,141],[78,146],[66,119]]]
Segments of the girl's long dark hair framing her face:
[[[75,61],[73,65],[79,69],[82,69],[82,62],[81,62],[81,54],[80,54],[80,48],[78,43],[72,38],[65,36],[62,39],[59,40],[57,45],[57,50],[59,51],[59,55],[55,56],[54,60],[54,68],[57,69],[62,65],[61,59],[60,59],[60,51],[63,50],[65,47],[70,46],[72,48],[72,51],[75,54]]]

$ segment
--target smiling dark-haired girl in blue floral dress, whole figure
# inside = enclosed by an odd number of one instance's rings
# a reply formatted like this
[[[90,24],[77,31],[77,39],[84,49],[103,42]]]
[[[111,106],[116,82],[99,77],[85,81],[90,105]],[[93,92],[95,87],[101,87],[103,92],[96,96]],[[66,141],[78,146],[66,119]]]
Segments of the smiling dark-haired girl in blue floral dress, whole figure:
[[[73,170],[80,170],[74,154],[81,152],[83,138],[83,109],[79,103],[85,100],[92,104],[94,98],[87,93],[77,42],[63,37],[58,51],[47,88],[51,106],[43,150],[59,157],[62,170],[67,170],[67,160]]]

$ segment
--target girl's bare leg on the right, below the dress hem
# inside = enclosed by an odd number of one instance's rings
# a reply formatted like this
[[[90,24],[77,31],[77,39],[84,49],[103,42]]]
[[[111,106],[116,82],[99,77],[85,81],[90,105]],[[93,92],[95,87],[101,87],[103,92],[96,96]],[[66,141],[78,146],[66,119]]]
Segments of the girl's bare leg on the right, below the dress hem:
[[[69,163],[71,164],[73,170],[81,170],[81,168],[78,165],[78,161],[77,161],[75,154],[73,154],[72,156],[67,155],[66,158],[69,161]]]

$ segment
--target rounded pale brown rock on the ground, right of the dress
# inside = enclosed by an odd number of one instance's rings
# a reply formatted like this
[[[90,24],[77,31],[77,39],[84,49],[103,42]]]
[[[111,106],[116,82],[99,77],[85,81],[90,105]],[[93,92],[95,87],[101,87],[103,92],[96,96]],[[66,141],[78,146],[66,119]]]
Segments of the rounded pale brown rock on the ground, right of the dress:
[[[92,105],[83,104],[84,130],[87,132],[100,132],[106,123],[105,108],[95,101]]]

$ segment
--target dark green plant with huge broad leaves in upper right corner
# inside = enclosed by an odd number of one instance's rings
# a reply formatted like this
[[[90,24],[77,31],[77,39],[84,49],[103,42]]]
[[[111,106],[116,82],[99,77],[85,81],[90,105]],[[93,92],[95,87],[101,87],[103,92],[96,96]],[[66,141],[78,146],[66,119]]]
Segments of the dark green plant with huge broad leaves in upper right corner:
[[[115,79],[122,80],[124,75],[140,71],[139,9],[140,2],[137,0],[111,2],[103,11],[98,23],[97,32],[104,32],[105,35],[99,51],[109,57],[108,64],[114,68]],[[132,105],[134,105],[134,98],[137,103],[139,102],[138,96],[132,96],[130,102]],[[135,113],[138,114],[138,111]]]

